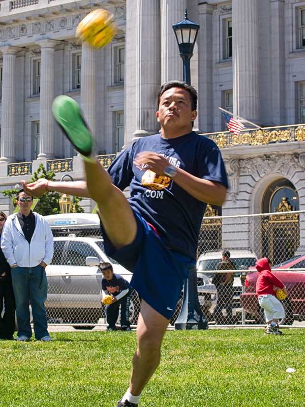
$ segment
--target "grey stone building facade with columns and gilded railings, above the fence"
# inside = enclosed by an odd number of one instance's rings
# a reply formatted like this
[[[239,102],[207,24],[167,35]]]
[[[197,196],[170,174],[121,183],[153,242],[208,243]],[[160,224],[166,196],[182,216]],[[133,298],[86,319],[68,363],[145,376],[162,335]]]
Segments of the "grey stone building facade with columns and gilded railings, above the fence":
[[[80,103],[103,162],[158,132],[158,88],[182,79],[172,24],[187,8],[200,24],[191,60],[199,92],[195,128],[218,143],[230,180],[222,214],[273,212],[281,188],[292,191],[294,209],[305,209],[305,1],[3,0],[0,6],[2,190],[31,178],[40,163],[58,179],[65,173],[83,179],[80,158],[52,118],[57,95]],[[97,51],[75,38],[79,21],[96,8],[111,11],[118,25],[113,41]],[[262,129],[232,137],[218,107]],[[82,204],[87,212],[95,205]],[[3,196],[0,206],[12,210]],[[303,235],[301,226],[300,247]]]

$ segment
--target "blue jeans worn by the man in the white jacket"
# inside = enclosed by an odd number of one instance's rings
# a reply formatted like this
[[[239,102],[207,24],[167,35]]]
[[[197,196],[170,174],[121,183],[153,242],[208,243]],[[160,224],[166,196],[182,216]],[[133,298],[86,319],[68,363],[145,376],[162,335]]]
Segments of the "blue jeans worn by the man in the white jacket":
[[[47,299],[48,282],[44,268],[42,266],[13,267],[11,273],[19,328],[17,335],[25,335],[28,338],[32,336],[29,315],[29,302],[31,301],[35,338],[39,340],[44,336],[49,336],[44,305]]]

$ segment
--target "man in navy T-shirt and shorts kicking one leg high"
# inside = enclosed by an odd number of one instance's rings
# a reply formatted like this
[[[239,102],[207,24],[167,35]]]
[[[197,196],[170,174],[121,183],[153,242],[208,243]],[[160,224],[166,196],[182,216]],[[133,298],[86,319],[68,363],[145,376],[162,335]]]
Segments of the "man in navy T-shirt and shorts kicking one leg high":
[[[34,196],[58,191],[95,200],[106,253],[133,271],[131,285],[142,298],[138,348],[130,386],[118,407],[138,405],[159,365],[163,336],[196,261],[206,203],[222,206],[228,185],[215,142],[192,131],[195,89],[169,81],[161,86],[157,106],[161,134],[135,141],[106,171],[94,156],[94,140],[79,105],[57,97],[54,117],[84,159],[86,182],[22,183]],[[128,186],[129,200],[122,192]]]

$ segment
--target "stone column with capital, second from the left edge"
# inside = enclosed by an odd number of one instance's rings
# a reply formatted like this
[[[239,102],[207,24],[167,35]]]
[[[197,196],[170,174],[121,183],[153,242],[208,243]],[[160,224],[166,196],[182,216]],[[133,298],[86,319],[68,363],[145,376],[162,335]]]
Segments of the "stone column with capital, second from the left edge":
[[[55,121],[52,114],[52,103],[55,95],[55,45],[54,40],[41,40],[36,44],[41,47],[40,74],[40,153],[38,160],[55,158]]]

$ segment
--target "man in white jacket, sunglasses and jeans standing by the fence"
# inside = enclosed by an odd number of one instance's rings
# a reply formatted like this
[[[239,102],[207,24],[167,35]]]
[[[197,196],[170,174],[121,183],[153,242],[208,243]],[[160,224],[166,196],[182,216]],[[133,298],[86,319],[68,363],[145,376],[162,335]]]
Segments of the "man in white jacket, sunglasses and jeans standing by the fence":
[[[16,299],[18,323],[17,340],[32,337],[29,301],[32,305],[35,338],[52,340],[48,333],[45,301],[48,283],[45,267],[53,257],[53,235],[43,216],[32,212],[33,197],[23,189],[17,193],[19,212],[10,215],[5,222],[1,247],[11,266]]]

